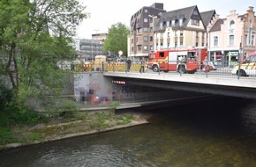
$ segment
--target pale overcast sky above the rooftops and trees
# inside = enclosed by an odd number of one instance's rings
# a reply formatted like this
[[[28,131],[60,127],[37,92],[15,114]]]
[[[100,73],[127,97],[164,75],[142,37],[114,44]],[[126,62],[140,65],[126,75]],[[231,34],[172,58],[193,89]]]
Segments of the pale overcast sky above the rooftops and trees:
[[[197,5],[200,12],[215,10],[220,18],[226,18],[230,11],[234,10],[238,15],[245,14],[249,6],[254,7],[253,11],[256,11],[256,0],[181,0],[180,3],[173,0],[79,0],[79,2],[87,6],[85,12],[90,15],[78,27],[76,38],[79,39],[91,39],[94,33],[108,33],[111,25],[118,22],[129,27],[130,19],[135,12],[154,3],[162,3],[165,11]]]

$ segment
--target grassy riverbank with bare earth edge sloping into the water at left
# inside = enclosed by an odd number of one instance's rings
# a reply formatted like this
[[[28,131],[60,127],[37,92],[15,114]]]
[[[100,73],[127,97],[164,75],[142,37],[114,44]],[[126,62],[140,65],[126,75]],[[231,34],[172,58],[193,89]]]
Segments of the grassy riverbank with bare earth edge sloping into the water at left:
[[[0,145],[0,149],[11,149],[42,142],[56,141],[86,134],[102,133],[125,127],[146,124],[147,116],[140,113],[113,111],[79,112],[72,117],[52,119],[33,127],[13,127],[11,133],[16,142]]]

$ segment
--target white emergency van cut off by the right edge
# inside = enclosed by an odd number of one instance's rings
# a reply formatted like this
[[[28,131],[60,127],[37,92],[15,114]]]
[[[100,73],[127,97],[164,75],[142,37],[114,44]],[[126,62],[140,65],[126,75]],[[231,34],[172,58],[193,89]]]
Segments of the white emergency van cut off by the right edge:
[[[249,54],[243,62],[237,63],[232,69],[232,74],[237,76],[256,75],[256,51]]]

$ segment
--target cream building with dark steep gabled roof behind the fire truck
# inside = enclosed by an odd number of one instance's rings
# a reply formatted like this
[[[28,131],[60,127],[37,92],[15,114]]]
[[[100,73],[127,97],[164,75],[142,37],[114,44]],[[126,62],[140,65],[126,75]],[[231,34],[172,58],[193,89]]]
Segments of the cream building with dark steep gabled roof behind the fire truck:
[[[162,13],[154,30],[154,49],[207,47],[207,25],[215,11],[200,13],[196,5]]]

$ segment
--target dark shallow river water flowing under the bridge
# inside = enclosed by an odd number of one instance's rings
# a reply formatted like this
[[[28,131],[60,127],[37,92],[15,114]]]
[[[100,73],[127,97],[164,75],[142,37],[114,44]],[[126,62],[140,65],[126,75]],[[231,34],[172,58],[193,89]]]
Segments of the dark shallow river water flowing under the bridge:
[[[0,152],[4,167],[254,167],[256,103],[221,98],[147,111],[150,123]]]

